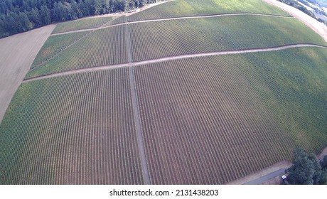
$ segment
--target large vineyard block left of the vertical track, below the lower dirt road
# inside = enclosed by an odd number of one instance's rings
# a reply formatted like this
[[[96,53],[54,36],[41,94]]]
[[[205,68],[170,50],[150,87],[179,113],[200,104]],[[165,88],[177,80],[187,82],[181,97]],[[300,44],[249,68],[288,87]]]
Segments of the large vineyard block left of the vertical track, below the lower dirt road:
[[[143,183],[130,95],[127,69],[21,85],[0,126],[0,184]]]

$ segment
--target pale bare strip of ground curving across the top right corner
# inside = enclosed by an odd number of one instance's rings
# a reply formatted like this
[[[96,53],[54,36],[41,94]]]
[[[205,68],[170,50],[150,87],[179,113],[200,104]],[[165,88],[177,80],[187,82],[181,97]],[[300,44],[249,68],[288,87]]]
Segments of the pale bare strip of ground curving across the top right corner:
[[[263,0],[263,1],[267,2],[268,4],[278,6],[280,9],[291,14],[291,16],[294,16],[295,18],[305,23],[306,26],[309,26],[309,28],[311,28],[313,31],[318,33],[323,39],[325,39],[325,41],[327,41],[327,26],[323,25],[323,23],[320,23],[319,21],[305,14],[304,12],[299,11],[298,9],[295,9],[292,6],[283,4],[282,2],[279,2],[277,0]]]

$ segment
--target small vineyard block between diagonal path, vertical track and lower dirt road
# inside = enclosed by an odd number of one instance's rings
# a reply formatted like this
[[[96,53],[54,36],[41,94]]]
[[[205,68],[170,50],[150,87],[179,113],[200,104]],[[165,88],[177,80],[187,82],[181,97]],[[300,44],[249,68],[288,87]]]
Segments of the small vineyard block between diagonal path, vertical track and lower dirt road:
[[[127,63],[125,26],[93,31],[52,60],[28,72],[26,78],[99,65]]]

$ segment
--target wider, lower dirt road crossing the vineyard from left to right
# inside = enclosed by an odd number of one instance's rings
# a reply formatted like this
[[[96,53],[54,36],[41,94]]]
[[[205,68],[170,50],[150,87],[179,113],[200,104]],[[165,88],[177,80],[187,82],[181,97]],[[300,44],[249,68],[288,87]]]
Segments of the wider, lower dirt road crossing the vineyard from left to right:
[[[91,68],[82,68],[77,70],[69,70],[65,72],[57,72],[50,75],[42,75],[38,77],[32,77],[30,79],[23,80],[22,83],[32,82],[36,80],[43,80],[48,79],[50,77],[59,77],[63,75],[73,75],[81,72],[91,72],[91,71],[100,71],[100,70],[112,70],[117,68],[127,68],[130,66],[138,66],[138,65],[145,65],[150,63],[161,63],[169,60],[181,60],[185,58],[199,58],[199,57],[206,57],[206,56],[213,56],[213,55],[233,55],[233,54],[242,54],[242,53],[259,53],[259,52],[271,52],[271,51],[278,51],[278,50],[286,50],[290,48],[302,48],[302,47],[315,47],[315,48],[326,48],[327,46],[323,45],[314,45],[314,44],[294,44],[294,45],[283,45],[278,47],[272,48],[255,48],[255,49],[247,49],[247,50],[227,50],[227,51],[218,51],[213,53],[198,53],[198,54],[188,54],[188,55],[178,55],[173,57],[167,58],[159,58],[155,60],[145,60],[136,63],[123,63],[118,65],[102,65],[102,66],[95,66]]]

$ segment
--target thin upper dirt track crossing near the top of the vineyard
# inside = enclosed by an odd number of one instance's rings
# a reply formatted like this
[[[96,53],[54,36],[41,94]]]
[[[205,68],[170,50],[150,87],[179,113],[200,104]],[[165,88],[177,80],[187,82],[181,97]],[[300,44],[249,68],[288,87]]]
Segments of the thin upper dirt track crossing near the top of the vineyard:
[[[173,17],[173,18],[159,18],[159,19],[149,19],[142,21],[127,21],[124,23],[114,24],[112,26],[100,26],[99,28],[89,28],[89,29],[81,29],[77,31],[68,31],[64,33],[55,33],[51,34],[51,36],[59,36],[69,33],[80,33],[84,31],[97,31],[104,28],[110,28],[114,26],[124,26],[125,24],[133,24],[133,23],[148,23],[148,22],[156,22],[156,21],[171,21],[171,20],[179,20],[179,19],[190,19],[190,18],[213,18],[213,17],[221,17],[221,16],[269,16],[269,17],[279,17],[279,18],[294,18],[293,16],[280,16],[274,14],[254,14],[254,13],[232,13],[232,14],[214,14],[214,15],[205,15],[205,16],[182,16],[182,17]]]

